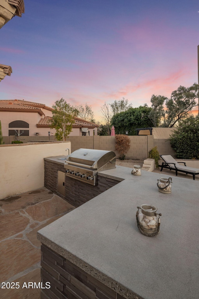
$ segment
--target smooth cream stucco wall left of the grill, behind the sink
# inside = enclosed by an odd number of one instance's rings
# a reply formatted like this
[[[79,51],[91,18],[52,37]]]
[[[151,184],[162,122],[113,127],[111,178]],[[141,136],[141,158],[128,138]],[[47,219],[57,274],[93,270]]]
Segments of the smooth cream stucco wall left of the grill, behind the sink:
[[[44,158],[66,154],[70,141],[0,145],[0,199],[44,186]]]

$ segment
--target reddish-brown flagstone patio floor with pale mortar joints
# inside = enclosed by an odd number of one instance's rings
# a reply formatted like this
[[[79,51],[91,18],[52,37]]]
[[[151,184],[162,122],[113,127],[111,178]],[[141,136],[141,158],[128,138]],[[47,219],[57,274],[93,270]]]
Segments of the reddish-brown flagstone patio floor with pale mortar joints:
[[[0,283],[19,282],[19,289],[1,289],[0,299],[39,299],[40,242],[37,231],[75,207],[45,187],[0,200]]]

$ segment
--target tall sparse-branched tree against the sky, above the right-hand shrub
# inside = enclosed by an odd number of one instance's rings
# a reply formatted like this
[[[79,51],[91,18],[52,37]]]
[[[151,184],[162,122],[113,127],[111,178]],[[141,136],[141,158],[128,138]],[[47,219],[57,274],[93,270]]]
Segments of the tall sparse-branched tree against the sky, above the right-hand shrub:
[[[149,118],[155,126],[172,128],[179,120],[187,117],[193,107],[198,106],[195,99],[198,97],[198,84],[190,87],[180,86],[171,93],[170,98],[164,96],[152,96],[152,112]],[[164,100],[164,101],[163,101]],[[165,102],[165,103],[164,103]],[[164,104],[163,104],[164,103]],[[165,107],[164,107],[165,106]],[[159,119],[161,118],[161,123]]]

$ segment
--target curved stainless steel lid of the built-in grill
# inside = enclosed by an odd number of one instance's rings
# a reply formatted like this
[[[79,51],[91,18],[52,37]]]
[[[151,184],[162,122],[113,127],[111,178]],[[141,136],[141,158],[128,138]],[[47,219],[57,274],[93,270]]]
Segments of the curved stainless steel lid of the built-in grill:
[[[66,163],[91,169],[99,169],[115,158],[116,154],[113,151],[79,149],[68,156]]]

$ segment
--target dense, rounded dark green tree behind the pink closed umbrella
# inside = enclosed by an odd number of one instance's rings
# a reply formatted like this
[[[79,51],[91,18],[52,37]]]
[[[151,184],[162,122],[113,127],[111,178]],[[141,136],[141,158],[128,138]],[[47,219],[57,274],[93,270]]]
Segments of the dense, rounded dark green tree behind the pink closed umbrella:
[[[128,131],[128,135],[136,135],[135,129],[152,127],[153,124],[148,118],[151,109],[145,105],[129,108],[127,111],[114,115],[111,125],[115,127],[115,133],[123,134]]]

